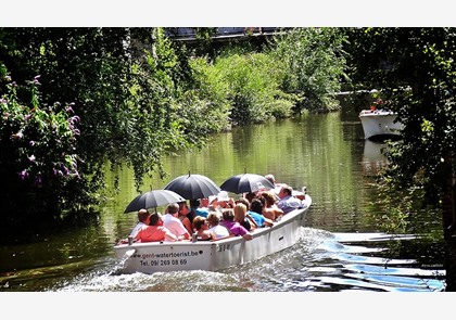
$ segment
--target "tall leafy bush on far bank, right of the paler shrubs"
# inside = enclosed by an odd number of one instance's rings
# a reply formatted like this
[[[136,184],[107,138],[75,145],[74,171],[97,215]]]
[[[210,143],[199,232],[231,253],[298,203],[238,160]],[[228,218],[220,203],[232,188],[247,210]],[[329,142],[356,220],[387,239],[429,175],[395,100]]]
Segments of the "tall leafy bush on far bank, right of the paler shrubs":
[[[284,92],[300,94],[296,110],[335,110],[335,93],[346,80],[345,36],[338,28],[293,28],[273,41],[275,61],[283,68]]]

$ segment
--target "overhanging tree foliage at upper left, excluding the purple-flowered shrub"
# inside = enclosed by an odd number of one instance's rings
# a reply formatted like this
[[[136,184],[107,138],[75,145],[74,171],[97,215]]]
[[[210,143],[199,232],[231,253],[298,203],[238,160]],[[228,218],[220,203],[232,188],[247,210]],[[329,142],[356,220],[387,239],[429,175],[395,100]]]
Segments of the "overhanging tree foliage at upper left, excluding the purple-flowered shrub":
[[[131,165],[140,185],[145,174],[165,175],[163,154],[207,139],[207,135],[199,136],[204,124],[210,124],[210,130],[218,128],[211,125],[215,123],[212,117],[194,118],[200,129],[186,118],[195,114],[188,108],[194,106],[188,97],[193,77],[189,55],[160,28],[3,28],[0,46],[4,49],[0,52],[2,69],[8,68],[18,84],[41,75],[40,110],[45,114],[36,114],[50,116],[47,105],[53,105],[52,114],[60,114],[65,106],[59,101],[67,101],[80,119],[80,137],[72,150],[79,159],[80,180],[72,182],[72,192],[59,190],[49,196],[65,204],[47,205],[52,212],[96,204],[107,161],[113,166]],[[8,93],[4,86],[0,93]],[[37,93],[24,86],[16,88],[15,95],[17,101],[37,99]],[[22,129],[17,127],[15,132]],[[10,136],[2,132],[1,137]],[[1,164],[8,171],[12,168],[5,162],[14,162],[15,156],[4,154]],[[22,182],[10,187],[12,193],[29,188]],[[41,206],[38,203],[30,200],[29,207]],[[11,215],[16,210],[13,202],[4,202],[3,208]]]

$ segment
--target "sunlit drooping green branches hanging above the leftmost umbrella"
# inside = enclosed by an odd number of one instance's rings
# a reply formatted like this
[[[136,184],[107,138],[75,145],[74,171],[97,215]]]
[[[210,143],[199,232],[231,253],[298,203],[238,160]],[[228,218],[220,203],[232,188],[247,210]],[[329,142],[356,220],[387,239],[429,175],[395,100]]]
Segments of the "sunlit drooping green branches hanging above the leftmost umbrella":
[[[131,71],[128,117],[119,119],[127,123],[129,139],[118,164],[134,167],[138,187],[154,170],[161,179],[166,176],[164,154],[201,148],[208,133],[227,126],[226,106],[185,48],[175,48],[163,29],[153,30],[153,50],[142,56]]]

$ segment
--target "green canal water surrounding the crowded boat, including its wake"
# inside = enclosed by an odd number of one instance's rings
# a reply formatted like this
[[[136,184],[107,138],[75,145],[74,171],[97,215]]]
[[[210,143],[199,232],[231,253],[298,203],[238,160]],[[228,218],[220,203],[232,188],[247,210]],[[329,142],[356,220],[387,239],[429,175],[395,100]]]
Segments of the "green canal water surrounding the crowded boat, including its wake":
[[[173,178],[205,175],[217,184],[241,172],[274,174],[314,201],[303,239],[283,252],[220,272],[125,274],[113,244],[136,223],[123,214],[137,193],[131,171],[109,172],[107,202],[96,226],[67,230],[29,245],[0,247],[0,291],[50,292],[433,292],[444,289],[440,217],[417,214],[393,233],[372,207],[384,144],[365,141],[356,115],[305,114],[235,128],[202,151],[165,159],[165,181],[147,178],[142,191]],[[161,209],[161,208],[159,208]],[[413,219],[413,220],[411,220]]]

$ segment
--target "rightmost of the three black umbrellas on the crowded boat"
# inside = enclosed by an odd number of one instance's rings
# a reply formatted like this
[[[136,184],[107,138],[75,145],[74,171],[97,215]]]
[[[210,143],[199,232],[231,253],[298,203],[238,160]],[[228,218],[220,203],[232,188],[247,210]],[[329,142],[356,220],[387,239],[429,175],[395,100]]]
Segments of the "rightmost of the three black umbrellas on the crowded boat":
[[[242,174],[228,178],[220,189],[232,193],[255,192],[264,189],[274,189],[274,184],[265,177],[255,174]]]

